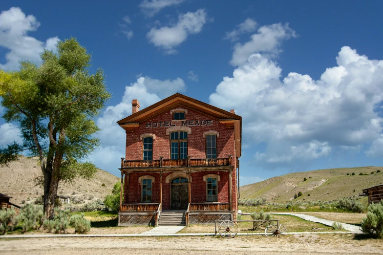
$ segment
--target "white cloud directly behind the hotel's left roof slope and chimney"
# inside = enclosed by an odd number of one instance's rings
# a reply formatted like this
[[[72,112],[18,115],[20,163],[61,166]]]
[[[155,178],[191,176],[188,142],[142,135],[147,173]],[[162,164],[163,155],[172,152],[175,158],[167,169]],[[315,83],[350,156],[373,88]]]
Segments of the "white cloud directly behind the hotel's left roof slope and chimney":
[[[97,134],[102,146],[89,156],[97,167],[118,175],[119,160],[125,155],[126,134],[117,121],[131,115],[131,102],[137,99],[143,109],[176,92],[185,91],[185,83],[181,78],[174,80],[157,80],[140,77],[135,83],[125,87],[125,93],[119,104],[106,107],[104,113],[96,121],[101,131]]]

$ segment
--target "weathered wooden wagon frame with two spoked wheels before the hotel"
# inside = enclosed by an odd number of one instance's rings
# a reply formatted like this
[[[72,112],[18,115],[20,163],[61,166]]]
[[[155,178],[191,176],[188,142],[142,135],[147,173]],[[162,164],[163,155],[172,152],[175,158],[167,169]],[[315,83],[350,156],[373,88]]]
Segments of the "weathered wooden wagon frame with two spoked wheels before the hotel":
[[[215,220],[215,235],[218,232],[224,238],[234,238],[238,234],[237,222],[277,222],[277,225],[274,224],[266,227],[265,235],[269,237],[281,237],[281,234],[285,235],[287,232],[287,229],[282,224],[279,224],[279,220]],[[219,224],[218,229],[217,224]]]

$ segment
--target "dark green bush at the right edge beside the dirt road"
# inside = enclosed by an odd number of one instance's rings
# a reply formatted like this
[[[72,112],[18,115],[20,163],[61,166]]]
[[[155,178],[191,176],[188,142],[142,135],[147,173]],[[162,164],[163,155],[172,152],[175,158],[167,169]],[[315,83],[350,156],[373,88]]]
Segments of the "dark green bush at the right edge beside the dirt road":
[[[362,231],[373,234],[379,238],[383,235],[383,200],[380,203],[370,204],[367,217],[363,218]]]

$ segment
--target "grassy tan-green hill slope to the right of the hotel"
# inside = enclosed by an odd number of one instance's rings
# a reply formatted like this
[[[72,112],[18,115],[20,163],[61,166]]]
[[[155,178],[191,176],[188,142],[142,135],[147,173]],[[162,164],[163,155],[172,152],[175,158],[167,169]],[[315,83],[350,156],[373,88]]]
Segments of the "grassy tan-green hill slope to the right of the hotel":
[[[381,172],[376,173],[377,170]],[[370,174],[374,171],[374,174]],[[356,175],[351,175],[355,172]],[[350,175],[346,175],[349,173]],[[368,175],[359,175],[367,173]],[[312,178],[309,178],[309,177]],[[303,181],[306,177],[307,180]],[[285,202],[294,194],[303,193],[294,201],[328,201],[362,193],[362,189],[383,184],[383,167],[336,168],[294,172],[240,187],[241,198],[261,198],[268,202]],[[354,192],[355,189],[355,192]],[[307,196],[310,194],[310,196]]]

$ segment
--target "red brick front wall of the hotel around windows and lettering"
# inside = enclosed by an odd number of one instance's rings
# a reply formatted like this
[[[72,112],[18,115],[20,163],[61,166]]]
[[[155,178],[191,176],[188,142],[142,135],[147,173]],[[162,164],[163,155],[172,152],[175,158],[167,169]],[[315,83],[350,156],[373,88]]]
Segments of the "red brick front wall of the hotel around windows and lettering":
[[[226,129],[225,124],[220,124],[219,120],[210,116],[202,115],[185,106],[174,106],[174,108],[187,109],[186,120],[213,120],[213,126],[195,126],[191,128],[191,134],[188,135],[188,155],[191,158],[206,158],[206,138],[203,138],[203,133],[210,130],[219,132],[217,137],[217,157],[226,158],[228,155],[233,155],[232,165],[232,190],[233,190],[233,211],[237,210],[237,188],[236,188],[236,160],[234,148],[234,129]],[[172,120],[170,109],[159,114],[145,122],[140,123],[140,127],[136,127],[134,132],[127,133],[126,160],[142,160],[142,141],[140,135],[144,133],[153,133],[156,139],[153,141],[153,159],[159,159],[163,156],[164,159],[170,158],[170,137],[166,134],[166,129],[169,127],[146,127],[147,122],[169,122]],[[181,126],[179,121],[172,122],[172,125]],[[191,202],[201,203],[206,202],[206,182],[203,181],[203,175],[209,173],[219,174],[221,180],[218,182],[218,202],[229,202],[229,176],[228,172],[195,172],[191,173]],[[162,192],[162,209],[169,210],[170,208],[170,186],[165,183],[166,176],[170,173],[163,174],[163,192]],[[130,173],[129,188],[125,187],[124,191],[128,192],[127,203],[141,202],[141,186],[138,183],[138,177],[142,175],[152,175],[155,177],[152,190],[152,202],[159,203],[160,190],[160,174],[159,173]],[[127,182],[125,182],[127,183]],[[126,199],[125,199],[126,200]]]

